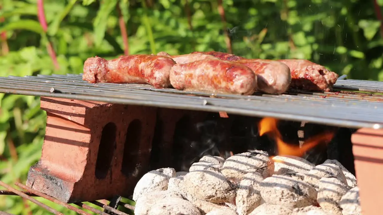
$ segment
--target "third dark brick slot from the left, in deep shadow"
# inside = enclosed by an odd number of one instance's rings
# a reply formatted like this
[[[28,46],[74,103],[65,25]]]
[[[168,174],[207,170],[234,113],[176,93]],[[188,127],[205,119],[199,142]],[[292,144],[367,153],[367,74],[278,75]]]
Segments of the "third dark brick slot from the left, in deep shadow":
[[[150,155],[150,168],[159,169],[160,167],[160,154],[161,154],[161,141],[164,138],[164,122],[157,118],[154,127],[154,134],[152,140],[152,151]]]

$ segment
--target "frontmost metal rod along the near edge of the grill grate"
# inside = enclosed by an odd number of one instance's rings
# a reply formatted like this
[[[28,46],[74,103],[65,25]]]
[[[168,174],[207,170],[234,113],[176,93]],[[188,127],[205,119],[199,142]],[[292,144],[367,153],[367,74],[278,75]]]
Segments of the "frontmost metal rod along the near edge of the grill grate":
[[[45,92],[34,92],[29,90],[8,90],[6,88],[0,88],[0,92],[4,93],[12,93],[12,94],[23,94],[30,96],[46,96],[46,97],[54,97],[54,98],[67,98],[67,99],[79,99],[83,101],[101,101],[106,103],[117,103],[117,104],[130,104],[130,105],[143,105],[143,106],[151,106],[151,107],[159,107],[159,108],[174,108],[174,109],[183,109],[183,110],[193,110],[193,111],[209,111],[209,112],[219,112],[225,111],[228,114],[239,114],[244,116],[255,116],[255,117],[274,117],[279,119],[285,119],[290,121],[308,121],[318,124],[326,124],[338,127],[349,127],[349,128],[361,128],[361,127],[370,127],[380,129],[383,128],[383,122],[376,121],[355,121],[350,119],[352,114],[343,111],[344,113],[349,114],[347,118],[341,118],[337,116],[341,112],[336,112],[336,114],[332,113],[331,116],[315,114],[314,116],[304,115],[304,114],[292,114],[288,112],[277,112],[278,109],[291,109],[291,108],[283,108],[274,106],[273,109],[268,110],[259,110],[259,109],[239,109],[239,108],[231,108],[225,106],[212,106],[212,105],[201,105],[201,104],[174,104],[169,102],[153,102],[153,101],[145,101],[145,100],[134,100],[134,99],[116,99],[116,98],[106,98],[100,96],[85,96],[80,94],[63,94],[63,93],[45,93]],[[254,106],[249,106],[248,108],[254,108]],[[256,108],[262,107],[262,104],[255,106]],[[295,107],[298,109],[298,107]],[[307,108],[306,108],[307,109]],[[310,107],[309,109],[313,109]],[[302,109],[299,109],[302,110]],[[327,112],[331,112],[333,110],[327,110]],[[357,112],[355,112],[357,113]],[[383,114],[376,113],[376,117],[383,116]]]

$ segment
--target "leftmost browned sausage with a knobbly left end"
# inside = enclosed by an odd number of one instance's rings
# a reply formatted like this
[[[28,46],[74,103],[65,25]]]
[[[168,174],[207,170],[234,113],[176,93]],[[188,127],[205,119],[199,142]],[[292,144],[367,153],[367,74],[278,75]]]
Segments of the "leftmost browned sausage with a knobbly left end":
[[[155,88],[167,88],[173,65],[175,61],[166,56],[139,54],[113,60],[96,56],[85,61],[82,80],[90,83],[148,83]]]

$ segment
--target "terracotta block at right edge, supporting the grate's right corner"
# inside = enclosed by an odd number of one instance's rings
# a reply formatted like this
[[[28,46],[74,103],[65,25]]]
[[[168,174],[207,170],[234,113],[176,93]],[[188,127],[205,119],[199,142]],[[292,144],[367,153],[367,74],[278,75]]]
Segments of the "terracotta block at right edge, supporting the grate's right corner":
[[[362,213],[380,214],[383,195],[383,129],[359,129],[352,135],[351,141]]]

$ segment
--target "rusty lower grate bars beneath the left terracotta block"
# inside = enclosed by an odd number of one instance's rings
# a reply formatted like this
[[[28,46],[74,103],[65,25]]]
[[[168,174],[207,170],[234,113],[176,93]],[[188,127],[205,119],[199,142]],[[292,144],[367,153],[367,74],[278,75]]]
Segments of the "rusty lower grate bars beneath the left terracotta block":
[[[65,207],[65,208],[68,208],[68,209],[70,209],[70,210],[72,210],[72,211],[74,211],[74,212],[76,212],[78,214],[90,215],[90,213],[87,213],[87,212],[81,210],[80,208],[76,208],[76,207],[74,207],[74,206],[72,206],[70,204],[66,204],[64,202],[61,202],[60,200],[57,200],[57,199],[55,199],[55,198],[53,198],[53,197],[51,197],[49,195],[46,195],[46,194],[44,194],[42,192],[36,191],[36,190],[34,190],[34,189],[30,188],[30,187],[27,187],[24,184],[21,184],[19,182],[15,182],[15,185],[20,187],[20,188],[22,188],[22,189],[24,189],[24,190],[26,190],[26,191],[17,190],[15,188],[5,184],[2,181],[0,181],[0,185],[5,187],[6,189],[8,189],[8,190],[1,190],[0,191],[0,195],[19,195],[19,196],[23,197],[24,199],[27,199],[27,200],[29,200],[29,201],[39,205],[40,207],[43,207],[44,209],[48,210],[51,213],[62,215],[61,212],[58,212],[57,210],[54,210],[53,208],[43,204],[42,202],[39,202],[38,200],[33,199],[32,197],[42,197],[42,198],[47,199],[47,200],[49,200],[51,202],[54,202],[54,203],[56,203],[58,205],[61,205],[61,206]],[[110,213],[102,212],[101,210],[98,210],[96,208],[90,207],[89,205],[83,204],[82,202],[75,202],[73,204],[75,204],[75,205],[77,205],[79,207],[85,208],[87,210],[90,210],[93,213],[100,214],[100,215],[110,215],[110,214],[128,215],[127,213],[121,212],[121,211],[119,211],[119,210],[117,210],[115,208],[112,208],[112,207],[110,207],[108,205],[102,204],[101,202],[98,202],[98,201],[91,201],[90,203],[92,203],[94,205],[97,205],[97,206],[99,206],[101,208],[105,208],[105,209],[109,210]],[[119,202],[119,205],[122,205],[123,207],[131,209],[131,210],[134,210],[134,208],[135,208],[134,206],[129,205],[129,204],[125,204],[124,202]]]

